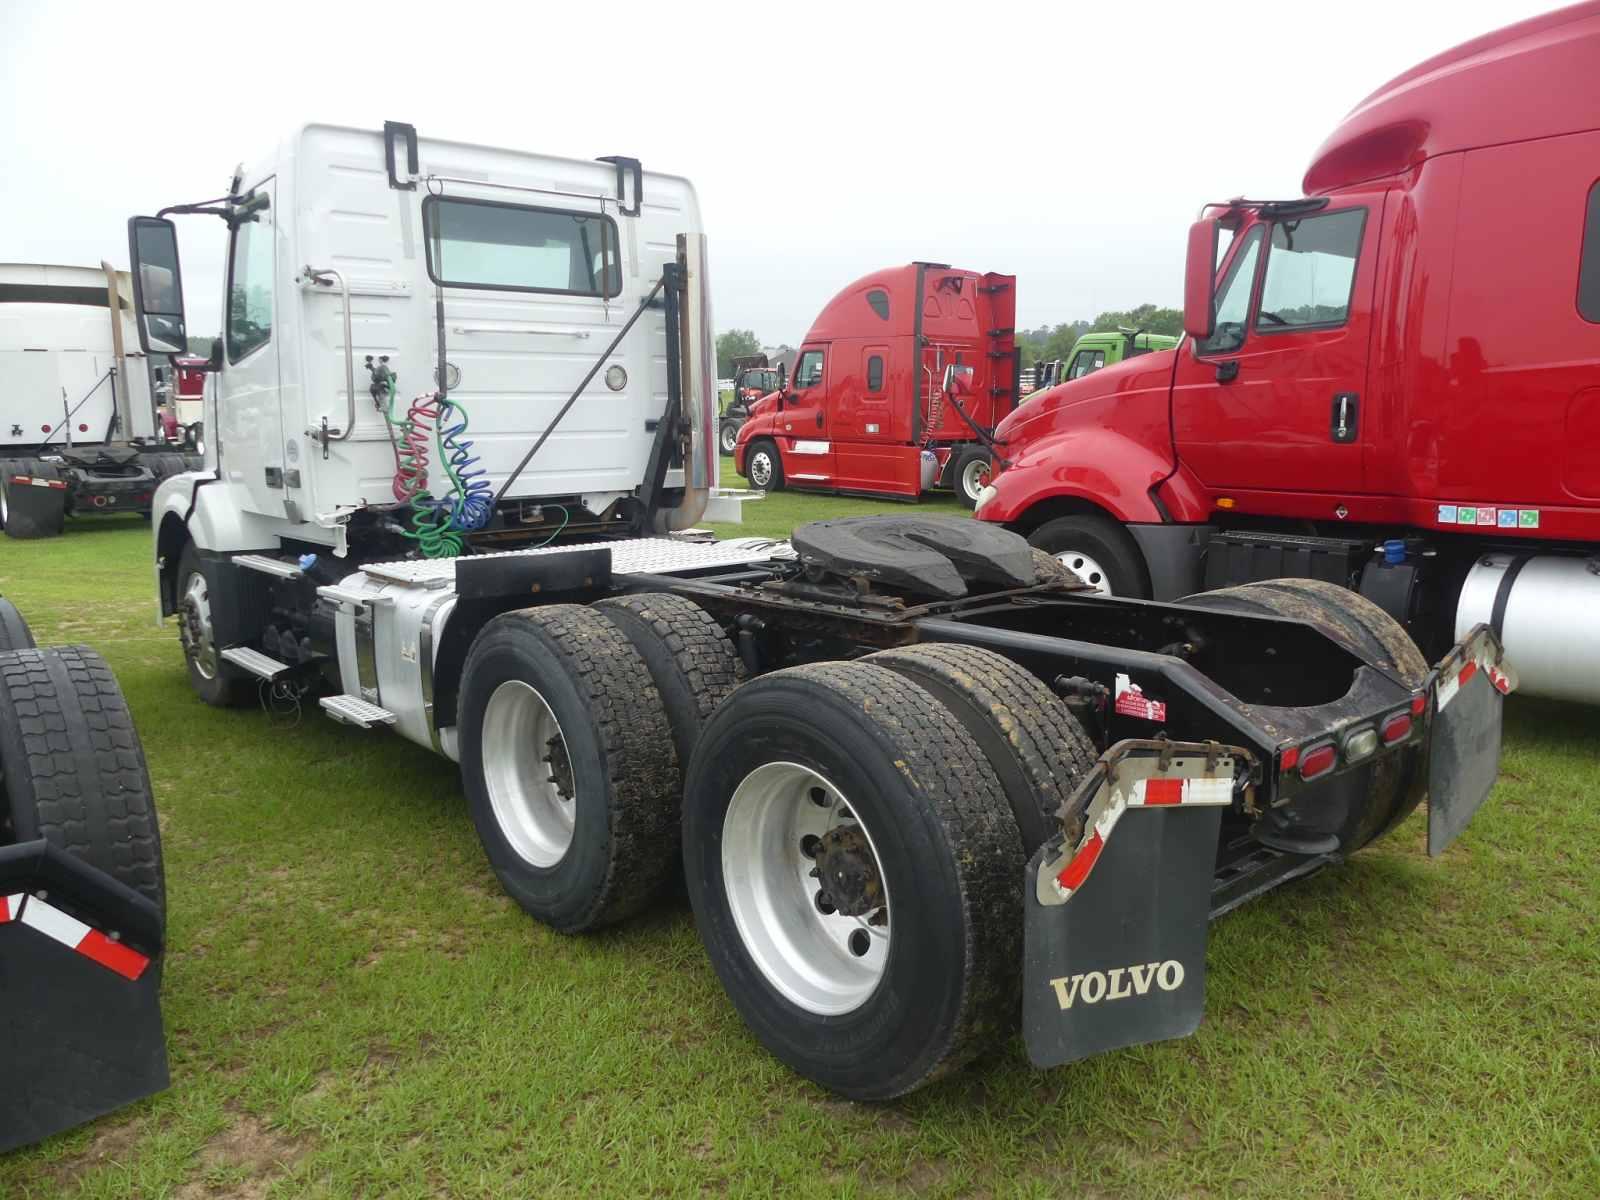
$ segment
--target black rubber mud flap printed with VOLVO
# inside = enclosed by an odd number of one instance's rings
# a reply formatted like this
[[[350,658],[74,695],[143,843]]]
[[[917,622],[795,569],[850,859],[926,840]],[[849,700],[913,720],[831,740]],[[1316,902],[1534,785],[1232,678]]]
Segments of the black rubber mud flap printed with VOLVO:
[[[1187,1037],[1205,1011],[1205,946],[1222,810],[1128,810],[1064,904],[1024,883],[1022,1038],[1037,1067]]]

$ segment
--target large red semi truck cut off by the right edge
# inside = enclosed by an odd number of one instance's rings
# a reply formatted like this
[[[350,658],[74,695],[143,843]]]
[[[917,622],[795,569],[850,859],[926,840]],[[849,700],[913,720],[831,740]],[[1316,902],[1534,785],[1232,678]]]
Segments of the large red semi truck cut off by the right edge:
[[[1523,21],[1362,101],[1302,198],[1206,206],[1184,342],[1005,418],[978,517],[1120,595],[1488,622],[1525,691],[1600,702],[1597,64],[1600,3]]]

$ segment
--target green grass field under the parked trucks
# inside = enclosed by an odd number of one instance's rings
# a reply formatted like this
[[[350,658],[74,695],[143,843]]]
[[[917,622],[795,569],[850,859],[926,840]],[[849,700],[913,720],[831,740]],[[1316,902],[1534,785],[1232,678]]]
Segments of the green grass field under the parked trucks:
[[[778,496],[744,531],[872,507]],[[499,893],[448,762],[195,701],[146,525],[0,539],[0,592],[133,706],[173,1061],[0,1160],[0,1197],[1600,1194],[1594,710],[1515,702],[1445,858],[1414,816],[1219,922],[1195,1037],[1043,1074],[1013,1042],[869,1107],[744,1032],[682,901],[557,936]]]

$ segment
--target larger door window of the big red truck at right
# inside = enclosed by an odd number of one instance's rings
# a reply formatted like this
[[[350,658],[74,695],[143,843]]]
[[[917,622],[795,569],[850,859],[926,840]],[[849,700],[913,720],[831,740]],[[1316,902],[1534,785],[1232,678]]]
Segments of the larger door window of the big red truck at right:
[[[1275,222],[1256,331],[1344,325],[1365,227],[1365,208]]]

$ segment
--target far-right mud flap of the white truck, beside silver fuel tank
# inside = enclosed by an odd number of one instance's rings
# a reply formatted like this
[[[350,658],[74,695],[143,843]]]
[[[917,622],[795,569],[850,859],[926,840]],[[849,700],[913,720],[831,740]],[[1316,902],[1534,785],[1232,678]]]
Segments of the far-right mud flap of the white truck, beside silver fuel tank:
[[[1442,854],[1467,827],[1499,776],[1506,693],[1499,642],[1478,626],[1440,662],[1429,749],[1427,853]]]

